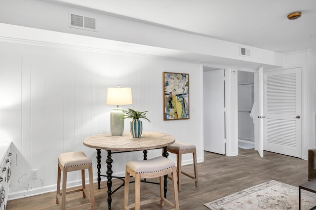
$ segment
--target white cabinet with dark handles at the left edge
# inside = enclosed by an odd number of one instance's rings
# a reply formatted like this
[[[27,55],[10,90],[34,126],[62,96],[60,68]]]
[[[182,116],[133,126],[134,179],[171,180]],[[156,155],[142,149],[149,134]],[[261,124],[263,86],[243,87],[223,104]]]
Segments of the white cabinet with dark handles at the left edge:
[[[0,210],[5,210],[11,176],[10,142],[0,142]]]

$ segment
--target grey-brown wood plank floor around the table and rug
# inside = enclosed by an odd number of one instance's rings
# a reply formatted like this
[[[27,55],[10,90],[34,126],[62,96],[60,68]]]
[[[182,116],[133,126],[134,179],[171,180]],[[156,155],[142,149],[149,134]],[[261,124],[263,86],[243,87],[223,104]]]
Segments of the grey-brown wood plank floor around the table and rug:
[[[293,186],[298,186],[307,181],[307,161],[300,158],[280,155],[264,151],[264,158],[260,158],[253,149],[239,148],[239,155],[227,157],[211,152],[204,152],[204,162],[198,163],[199,186],[195,187],[194,181],[183,177],[179,203],[181,210],[207,210],[204,203],[236,193],[240,190],[269,181],[281,181]],[[103,170],[105,167],[103,167]],[[193,166],[183,166],[188,172],[193,172]],[[157,179],[158,180],[158,179]],[[113,181],[113,187],[119,185],[118,179]],[[170,185],[168,185],[171,187]],[[134,184],[130,185],[130,203],[133,203]],[[94,184],[95,205],[97,210],[108,209],[107,185],[101,182],[101,189]],[[118,190],[112,196],[112,210],[122,210],[124,190]],[[158,185],[142,183],[141,196],[146,199],[159,195]],[[168,191],[168,198],[172,198]],[[80,198],[81,197],[81,198]],[[85,203],[86,198],[81,194],[73,193],[67,197],[66,207]],[[55,192],[28,198],[8,201],[6,210],[59,210],[56,204]],[[159,202],[145,205],[142,210],[167,210],[168,205],[160,208]],[[83,209],[79,209],[83,210]]]

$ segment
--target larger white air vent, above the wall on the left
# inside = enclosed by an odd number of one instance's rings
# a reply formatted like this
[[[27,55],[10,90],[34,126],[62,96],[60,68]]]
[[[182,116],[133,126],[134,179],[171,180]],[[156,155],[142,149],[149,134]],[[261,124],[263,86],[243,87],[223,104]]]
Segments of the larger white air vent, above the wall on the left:
[[[69,14],[69,27],[95,32],[95,18]]]

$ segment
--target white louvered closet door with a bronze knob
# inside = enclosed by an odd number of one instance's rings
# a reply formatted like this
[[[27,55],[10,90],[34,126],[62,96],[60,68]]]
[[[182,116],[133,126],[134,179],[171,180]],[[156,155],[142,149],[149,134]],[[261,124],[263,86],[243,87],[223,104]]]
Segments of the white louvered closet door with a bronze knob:
[[[264,73],[264,150],[301,157],[301,69]]]

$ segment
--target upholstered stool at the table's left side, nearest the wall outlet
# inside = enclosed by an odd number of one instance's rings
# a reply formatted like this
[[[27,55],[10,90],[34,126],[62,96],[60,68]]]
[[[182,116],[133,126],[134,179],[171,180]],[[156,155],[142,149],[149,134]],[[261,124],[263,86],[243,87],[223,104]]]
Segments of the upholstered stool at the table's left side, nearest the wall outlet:
[[[90,195],[85,189],[84,170],[89,170],[89,183],[90,183]],[[66,191],[67,185],[67,173],[81,170],[81,182],[82,187],[80,189]],[[61,171],[63,172],[63,188],[60,193],[60,176]],[[57,174],[57,194],[56,204],[60,204],[62,210],[66,207],[66,194],[82,191],[83,197],[87,196],[90,203],[72,207],[71,209],[77,209],[82,206],[91,206],[94,210],[94,192],[93,192],[93,175],[92,175],[92,160],[85,156],[81,151],[79,152],[66,152],[58,156],[58,174]]]

